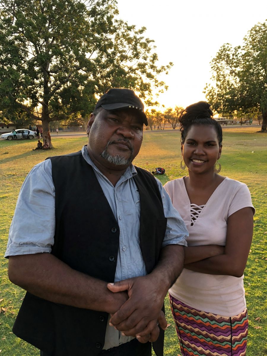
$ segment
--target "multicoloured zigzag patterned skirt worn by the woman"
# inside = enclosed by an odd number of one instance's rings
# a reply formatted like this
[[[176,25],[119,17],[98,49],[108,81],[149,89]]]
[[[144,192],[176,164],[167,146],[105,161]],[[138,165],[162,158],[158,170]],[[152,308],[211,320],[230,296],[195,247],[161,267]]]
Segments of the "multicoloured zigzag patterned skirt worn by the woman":
[[[244,356],[247,346],[247,309],[226,317],[201,312],[169,295],[183,356]]]

